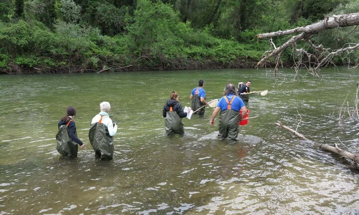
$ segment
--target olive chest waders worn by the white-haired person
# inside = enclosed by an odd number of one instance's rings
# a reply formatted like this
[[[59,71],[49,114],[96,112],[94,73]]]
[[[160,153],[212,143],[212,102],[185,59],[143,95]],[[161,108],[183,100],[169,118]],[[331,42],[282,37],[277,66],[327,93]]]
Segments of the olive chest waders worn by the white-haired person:
[[[110,136],[108,128],[102,123],[102,117],[98,122],[93,123],[89,130],[89,140],[95,151],[95,158],[101,160],[112,160],[113,158],[113,137]]]

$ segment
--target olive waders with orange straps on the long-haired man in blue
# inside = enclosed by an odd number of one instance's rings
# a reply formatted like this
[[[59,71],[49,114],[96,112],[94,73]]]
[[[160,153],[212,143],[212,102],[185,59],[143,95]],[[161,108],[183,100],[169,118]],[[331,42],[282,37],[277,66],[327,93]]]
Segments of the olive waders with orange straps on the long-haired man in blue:
[[[238,137],[239,112],[231,108],[234,98],[235,96],[229,102],[227,97],[224,97],[227,102],[227,109],[219,113],[218,136],[224,139],[228,137],[229,139],[237,140]]]

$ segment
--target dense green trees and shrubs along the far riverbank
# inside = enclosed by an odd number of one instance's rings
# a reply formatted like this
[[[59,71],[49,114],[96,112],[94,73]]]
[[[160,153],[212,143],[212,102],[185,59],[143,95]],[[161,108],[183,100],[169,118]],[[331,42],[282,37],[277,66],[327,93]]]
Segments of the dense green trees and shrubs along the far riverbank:
[[[359,0],[1,0],[0,72],[252,67],[269,48],[256,34],[358,9]],[[359,37],[335,36],[317,40]]]

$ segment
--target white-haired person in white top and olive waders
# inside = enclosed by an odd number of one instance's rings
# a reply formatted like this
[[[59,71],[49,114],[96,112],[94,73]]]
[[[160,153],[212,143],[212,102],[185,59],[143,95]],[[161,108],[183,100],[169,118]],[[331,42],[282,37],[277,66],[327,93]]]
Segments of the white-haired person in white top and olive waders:
[[[100,112],[92,118],[89,130],[89,140],[95,157],[101,160],[113,158],[113,136],[117,132],[117,124],[110,118],[110,109],[110,103],[100,103]]]

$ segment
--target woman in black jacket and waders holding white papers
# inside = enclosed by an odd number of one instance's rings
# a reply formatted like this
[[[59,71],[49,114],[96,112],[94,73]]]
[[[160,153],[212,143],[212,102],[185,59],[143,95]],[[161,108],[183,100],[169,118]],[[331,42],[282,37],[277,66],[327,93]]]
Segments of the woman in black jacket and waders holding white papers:
[[[182,118],[187,116],[187,112],[183,112],[182,105],[179,104],[179,96],[175,91],[171,93],[170,98],[162,110],[163,117],[166,117],[166,133],[168,136],[184,134]],[[189,112],[190,108],[187,111]]]

